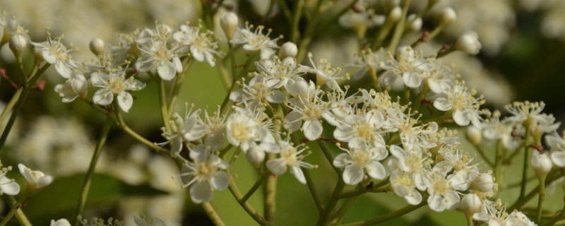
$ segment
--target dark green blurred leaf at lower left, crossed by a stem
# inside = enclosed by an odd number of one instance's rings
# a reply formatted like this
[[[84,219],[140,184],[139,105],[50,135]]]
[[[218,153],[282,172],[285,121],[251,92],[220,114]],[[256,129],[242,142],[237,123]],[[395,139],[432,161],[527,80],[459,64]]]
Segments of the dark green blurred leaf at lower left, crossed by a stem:
[[[25,202],[23,211],[34,225],[47,225],[52,219],[68,218],[76,214],[85,174],[55,179],[49,186],[36,191]],[[88,192],[86,207],[111,204],[126,196],[158,196],[167,194],[148,184],[130,185],[106,175],[94,174]]]

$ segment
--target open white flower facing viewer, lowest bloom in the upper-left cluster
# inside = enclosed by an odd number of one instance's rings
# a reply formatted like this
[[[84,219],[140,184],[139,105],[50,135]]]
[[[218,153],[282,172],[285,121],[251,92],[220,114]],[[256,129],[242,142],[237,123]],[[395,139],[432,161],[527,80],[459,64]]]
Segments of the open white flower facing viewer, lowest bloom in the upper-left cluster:
[[[118,105],[124,112],[128,112],[133,105],[133,97],[126,91],[145,88],[145,83],[137,81],[133,76],[126,79],[126,71],[124,70],[109,74],[95,72],[90,74],[90,81],[94,86],[100,88],[93,96],[95,104],[109,105],[114,101],[114,95],[118,95]]]

